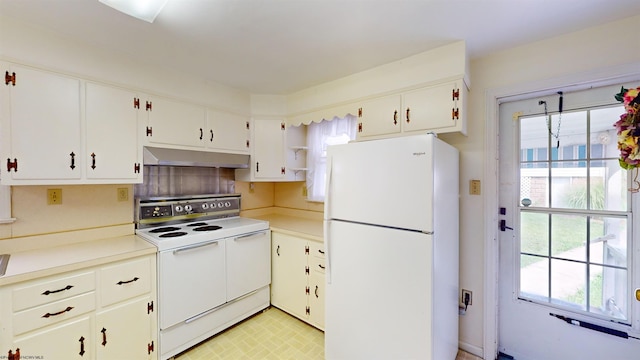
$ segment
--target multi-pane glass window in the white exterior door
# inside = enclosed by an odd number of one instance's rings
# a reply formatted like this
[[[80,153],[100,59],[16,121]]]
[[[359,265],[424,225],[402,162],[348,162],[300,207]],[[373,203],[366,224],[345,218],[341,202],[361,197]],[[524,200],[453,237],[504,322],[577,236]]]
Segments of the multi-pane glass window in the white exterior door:
[[[631,196],[612,126],[622,113],[520,118],[520,298],[630,323]]]

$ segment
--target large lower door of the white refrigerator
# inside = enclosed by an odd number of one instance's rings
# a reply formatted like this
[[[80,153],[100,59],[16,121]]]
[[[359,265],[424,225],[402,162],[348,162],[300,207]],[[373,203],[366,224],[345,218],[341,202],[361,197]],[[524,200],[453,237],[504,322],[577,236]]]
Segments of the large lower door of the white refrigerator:
[[[432,236],[340,221],[325,229],[326,359],[434,359]],[[438,359],[455,358],[454,342]]]

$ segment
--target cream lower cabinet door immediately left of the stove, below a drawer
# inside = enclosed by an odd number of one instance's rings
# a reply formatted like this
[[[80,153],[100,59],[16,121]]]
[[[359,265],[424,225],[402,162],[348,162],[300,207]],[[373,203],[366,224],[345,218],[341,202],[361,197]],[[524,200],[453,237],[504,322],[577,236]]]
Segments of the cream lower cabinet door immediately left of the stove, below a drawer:
[[[114,305],[96,315],[97,355],[105,359],[150,359],[151,315],[147,297]]]

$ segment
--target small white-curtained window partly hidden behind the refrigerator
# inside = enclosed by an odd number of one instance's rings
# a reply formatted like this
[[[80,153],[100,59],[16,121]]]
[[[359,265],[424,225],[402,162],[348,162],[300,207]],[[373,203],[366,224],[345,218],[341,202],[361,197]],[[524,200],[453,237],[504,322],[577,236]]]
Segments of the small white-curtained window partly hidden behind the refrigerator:
[[[356,117],[322,120],[307,128],[307,200],[324,201],[327,147],[356,138]]]

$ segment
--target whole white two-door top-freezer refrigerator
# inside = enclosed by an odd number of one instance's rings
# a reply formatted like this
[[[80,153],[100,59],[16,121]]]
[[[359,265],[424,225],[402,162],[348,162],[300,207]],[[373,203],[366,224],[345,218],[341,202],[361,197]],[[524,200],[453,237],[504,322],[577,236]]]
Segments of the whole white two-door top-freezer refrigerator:
[[[433,134],[328,148],[326,359],[456,358],[458,157]]]

